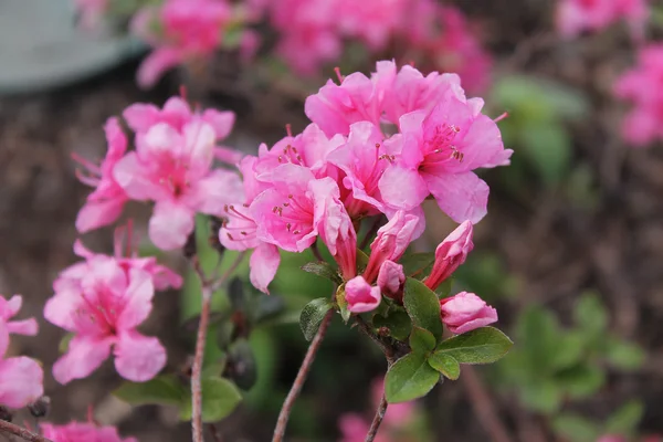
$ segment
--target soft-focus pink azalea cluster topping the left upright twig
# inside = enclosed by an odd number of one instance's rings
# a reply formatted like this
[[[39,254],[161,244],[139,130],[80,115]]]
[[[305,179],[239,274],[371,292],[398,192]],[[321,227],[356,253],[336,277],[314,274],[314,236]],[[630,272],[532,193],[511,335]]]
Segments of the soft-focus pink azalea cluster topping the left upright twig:
[[[213,168],[213,159],[234,164],[238,152],[218,146],[234,124],[234,114],[207,109],[192,112],[172,97],[162,109],[134,104],[124,112],[135,134],[135,150],[117,118],[106,123],[108,152],[101,166],[78,159],[88,170],[81,180],[95,187],[76,219],[81,233],[108,225],[129,200],[154,201],[149,238],[158,248],[181,248],[193,231],[197,212],[222,215],[242,186],[236,173]]]

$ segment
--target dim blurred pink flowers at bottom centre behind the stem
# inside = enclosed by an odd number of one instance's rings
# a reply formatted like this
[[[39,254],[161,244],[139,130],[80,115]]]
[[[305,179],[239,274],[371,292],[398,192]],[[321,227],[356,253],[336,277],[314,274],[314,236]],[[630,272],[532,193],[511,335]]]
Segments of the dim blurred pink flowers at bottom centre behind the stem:
[[[376,379],[372,382],[372,406],[377,407],[380,403],[382,391],[383,391],[383,379]],[[380,431],[376,436],[376,442],[396,442],[400,441],[396,436],[392,436],[396,432],[402,432],[402,430],[412,422],[417,412],[417,406],[414,402],[401,402],[391,403],[387,408],[385,419]],[[358,413],[346,413],[340,417],[338,427],[341,433],[339,442],[362,442],[370,429],[371,421]]]

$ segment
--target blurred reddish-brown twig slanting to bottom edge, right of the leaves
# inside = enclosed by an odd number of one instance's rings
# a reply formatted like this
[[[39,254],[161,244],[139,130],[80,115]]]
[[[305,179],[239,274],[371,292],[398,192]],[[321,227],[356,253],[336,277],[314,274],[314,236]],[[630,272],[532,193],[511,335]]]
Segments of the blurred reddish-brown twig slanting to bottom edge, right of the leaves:
[[[476,418],[490,434],[491,440],[493,442],[512,442],[513,439],[497,417],[497,413],[495,412],[495,404],[481,382],[481,379],[478,379],[474,367],[463,366],[461,381],[463,382],[463,387],[465,387],[465,391],[470,396]]]

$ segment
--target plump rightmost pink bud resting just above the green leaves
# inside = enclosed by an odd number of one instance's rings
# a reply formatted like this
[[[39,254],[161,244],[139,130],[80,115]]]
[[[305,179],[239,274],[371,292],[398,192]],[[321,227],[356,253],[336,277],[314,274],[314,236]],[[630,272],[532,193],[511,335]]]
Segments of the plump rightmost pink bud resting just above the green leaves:
[[[461,292],[440,299],[442,322],[452,333],[461,335],[497,320],[497,311],[474,293]]]

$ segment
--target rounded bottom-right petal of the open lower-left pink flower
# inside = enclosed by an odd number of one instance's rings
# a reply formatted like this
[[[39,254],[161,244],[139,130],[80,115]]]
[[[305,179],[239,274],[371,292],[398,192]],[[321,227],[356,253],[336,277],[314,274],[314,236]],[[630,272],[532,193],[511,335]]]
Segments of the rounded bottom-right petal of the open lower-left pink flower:
[[[150,380],[166,366],[166,349],[155,337],[137,332],[119,335],[115,344],[115,369],[134,382]]]

